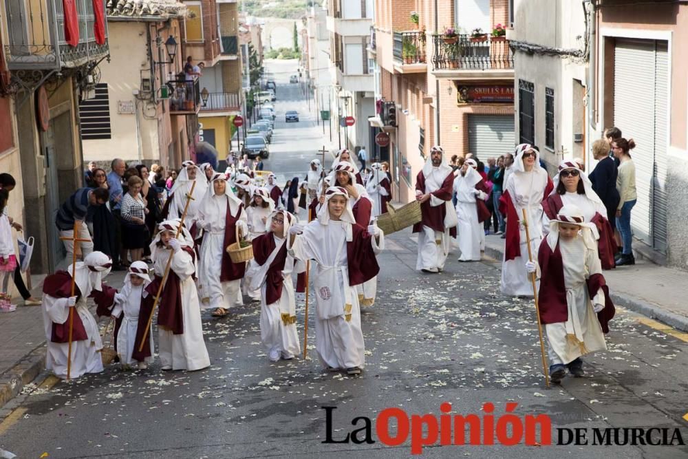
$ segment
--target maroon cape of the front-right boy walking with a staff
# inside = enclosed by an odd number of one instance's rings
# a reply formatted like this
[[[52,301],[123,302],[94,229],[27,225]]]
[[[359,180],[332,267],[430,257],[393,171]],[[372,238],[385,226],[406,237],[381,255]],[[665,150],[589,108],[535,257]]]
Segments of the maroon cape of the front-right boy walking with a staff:
[[[541,278],[540,290],[538,294],[538,305],[540,310],[541,323],[558,323],[568,320],[568,303],[566,303],[566,284],[563,280],[563,261],[559,243],[552,252],[547,239],[543,239],[537,254],[537,261],[540,265]],[[597,319],[602,327],[602,331],[609,332],[609,321],[614,317],[614,303],[609,296],[609,288],[604,276],[594,274],[588,279],[588,295],[594,298],[602,289],[605,295],[605,307],[597,313]]]

